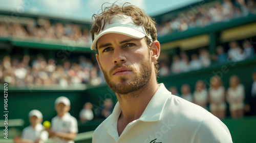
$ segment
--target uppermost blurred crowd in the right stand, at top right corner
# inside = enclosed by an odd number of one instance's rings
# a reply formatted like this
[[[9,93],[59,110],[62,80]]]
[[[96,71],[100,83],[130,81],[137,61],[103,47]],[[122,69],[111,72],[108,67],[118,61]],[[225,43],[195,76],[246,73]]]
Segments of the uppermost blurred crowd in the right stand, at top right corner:
[[[256,14],[255,0],[223,0],[212,7],[190,7],[189,11],[179,12],[168,20],[158,23],[158,36],[164,36],[174,32],[183,32],[194,28],[205,27],[212,23],[229,21],[234,18]]]

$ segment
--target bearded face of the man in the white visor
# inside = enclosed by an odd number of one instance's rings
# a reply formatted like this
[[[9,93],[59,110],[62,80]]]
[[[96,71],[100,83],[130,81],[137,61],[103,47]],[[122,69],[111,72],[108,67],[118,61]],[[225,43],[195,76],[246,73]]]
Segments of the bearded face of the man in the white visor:
[[[114,92],[130,93],[150,80],[154,63],[144,38],[111,33],[100,37],[97,47],[97,61]]]

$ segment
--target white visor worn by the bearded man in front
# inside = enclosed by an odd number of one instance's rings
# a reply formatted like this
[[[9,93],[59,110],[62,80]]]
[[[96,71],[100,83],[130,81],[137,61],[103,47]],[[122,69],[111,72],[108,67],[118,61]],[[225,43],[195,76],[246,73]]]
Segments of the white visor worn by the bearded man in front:
[[[103,25],[103,21],[102,21]],[[110,24],[107,22],[105,23],[104,29],[101,30],[98,34],[94,34],[94,40],[91,45],[91,50],[96,49],[96,43],[97,40],[108,33],[117,33],[117,34],[123,34],[127,35],[133,38],[143,38],[143,37],[148,37],[152,41],[151,35],[147,35],[145,28],[143,25],[138,26],[133,22],[133,19],[131,16],[127,15],[115,15],[111,19]]]

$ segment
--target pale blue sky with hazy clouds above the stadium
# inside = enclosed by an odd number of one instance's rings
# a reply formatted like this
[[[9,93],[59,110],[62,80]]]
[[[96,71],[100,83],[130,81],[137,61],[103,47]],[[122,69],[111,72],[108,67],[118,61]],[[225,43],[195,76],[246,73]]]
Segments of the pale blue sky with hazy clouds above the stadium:
[[[119,0],[117,3],[130,2],[154,16],[199,1],[202,0]],[[92,15],[97,13],[105,2],[113,3],[116,0],[0,0],[0,10],[91,20]]]

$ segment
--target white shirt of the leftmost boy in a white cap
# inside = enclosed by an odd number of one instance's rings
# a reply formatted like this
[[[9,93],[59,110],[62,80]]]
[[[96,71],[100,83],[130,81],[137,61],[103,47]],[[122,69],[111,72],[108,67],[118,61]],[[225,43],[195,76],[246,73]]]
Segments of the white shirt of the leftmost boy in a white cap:
[[[35,128],[28,126],[22,131],[22,139],[30,139],[33,141],[40,139],[40,142],[44,142],[48,139],[48,136],[48,132],[41,124],[37,124]]]

